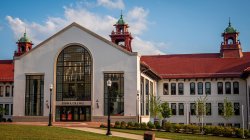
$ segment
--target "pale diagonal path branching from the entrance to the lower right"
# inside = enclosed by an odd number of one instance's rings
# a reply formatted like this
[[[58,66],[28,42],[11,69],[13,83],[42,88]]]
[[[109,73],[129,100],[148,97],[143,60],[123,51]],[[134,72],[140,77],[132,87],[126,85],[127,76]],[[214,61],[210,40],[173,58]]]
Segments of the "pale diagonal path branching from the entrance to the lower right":
[[[64,127],[68,129],[75,129],[75,130],[81,130],[86,132],[92,132],[92,133],[98,133],[98,134],[106,134],[106,130],[97,129],[97,128],[89,128],[89,127]],[[129,134],[129,133],[122,133],[122,132],[111,132],[113,136],[116,137],[123,137],[123,138],[129,138],[129,139],[135,139],[135,140],[143,140],[142,135],[135,135],[135,134]],[[162,138],[156,138],[156,140],[167,140]]]

